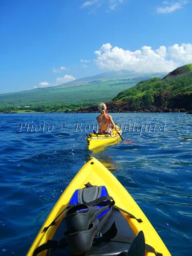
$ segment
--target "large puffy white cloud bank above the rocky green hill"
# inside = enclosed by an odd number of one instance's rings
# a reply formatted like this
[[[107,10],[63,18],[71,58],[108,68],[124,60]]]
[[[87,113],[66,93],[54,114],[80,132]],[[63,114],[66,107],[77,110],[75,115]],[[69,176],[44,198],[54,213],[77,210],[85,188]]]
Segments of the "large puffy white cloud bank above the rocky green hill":
[[[153,50],[150,46],[143,46],[136,51],[124,50],[103,44],[95,51],[96,65],[103,70],[129,70],[141,73],[170,72],[179,66],[192,62],[192,45],[182,44],[166,48],[160,46]]]

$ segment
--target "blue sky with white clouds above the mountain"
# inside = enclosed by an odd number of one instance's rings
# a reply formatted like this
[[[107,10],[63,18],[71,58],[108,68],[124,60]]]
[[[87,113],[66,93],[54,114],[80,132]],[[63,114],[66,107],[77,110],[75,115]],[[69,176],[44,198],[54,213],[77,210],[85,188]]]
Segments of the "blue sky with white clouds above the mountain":
[[[1,0],[0,93],[192,63],[191,2]]]

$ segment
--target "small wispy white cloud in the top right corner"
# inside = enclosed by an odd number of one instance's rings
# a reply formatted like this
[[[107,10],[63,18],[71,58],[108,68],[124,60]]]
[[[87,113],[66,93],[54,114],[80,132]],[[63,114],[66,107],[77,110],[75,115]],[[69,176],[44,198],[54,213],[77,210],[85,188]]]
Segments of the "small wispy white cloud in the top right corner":
[[[187,3],[187,0],[180,0],[177,2],[163,2],[164,6],[158,7],[157,12],[158,13],[174,12],[178,9],[181,9],[186,3]]]

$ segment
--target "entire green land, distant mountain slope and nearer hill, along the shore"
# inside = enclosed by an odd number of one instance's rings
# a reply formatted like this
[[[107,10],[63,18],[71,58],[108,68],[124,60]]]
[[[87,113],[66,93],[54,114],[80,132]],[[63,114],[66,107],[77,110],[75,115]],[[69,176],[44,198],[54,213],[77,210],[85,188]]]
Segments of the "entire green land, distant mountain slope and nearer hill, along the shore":
[[[101,101],[108,103],[111,112],[192,110],[192,64],[177,68],[163,78],[99,79],[84,78],[83,84],[83,79],[79,79],[75,81],[76,86],[68,83],[54,88],[2,94],[0,112],[95,112]],[[137,85],[136,81],[139,81]],[[124,88],[126,90],[121,91]]]

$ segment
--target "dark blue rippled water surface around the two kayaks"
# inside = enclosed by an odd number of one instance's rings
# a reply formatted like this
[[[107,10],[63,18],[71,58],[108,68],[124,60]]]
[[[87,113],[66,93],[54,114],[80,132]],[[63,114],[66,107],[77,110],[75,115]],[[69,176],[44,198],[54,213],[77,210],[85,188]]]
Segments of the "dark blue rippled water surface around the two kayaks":
[[[133,196],[170,253],[191,255],[192,115],[112,115],[127,126],[124,141],[93,152],[84,138],[97,114],[0,115],[0,254],[27,253],[62,191],[94,156]]]

